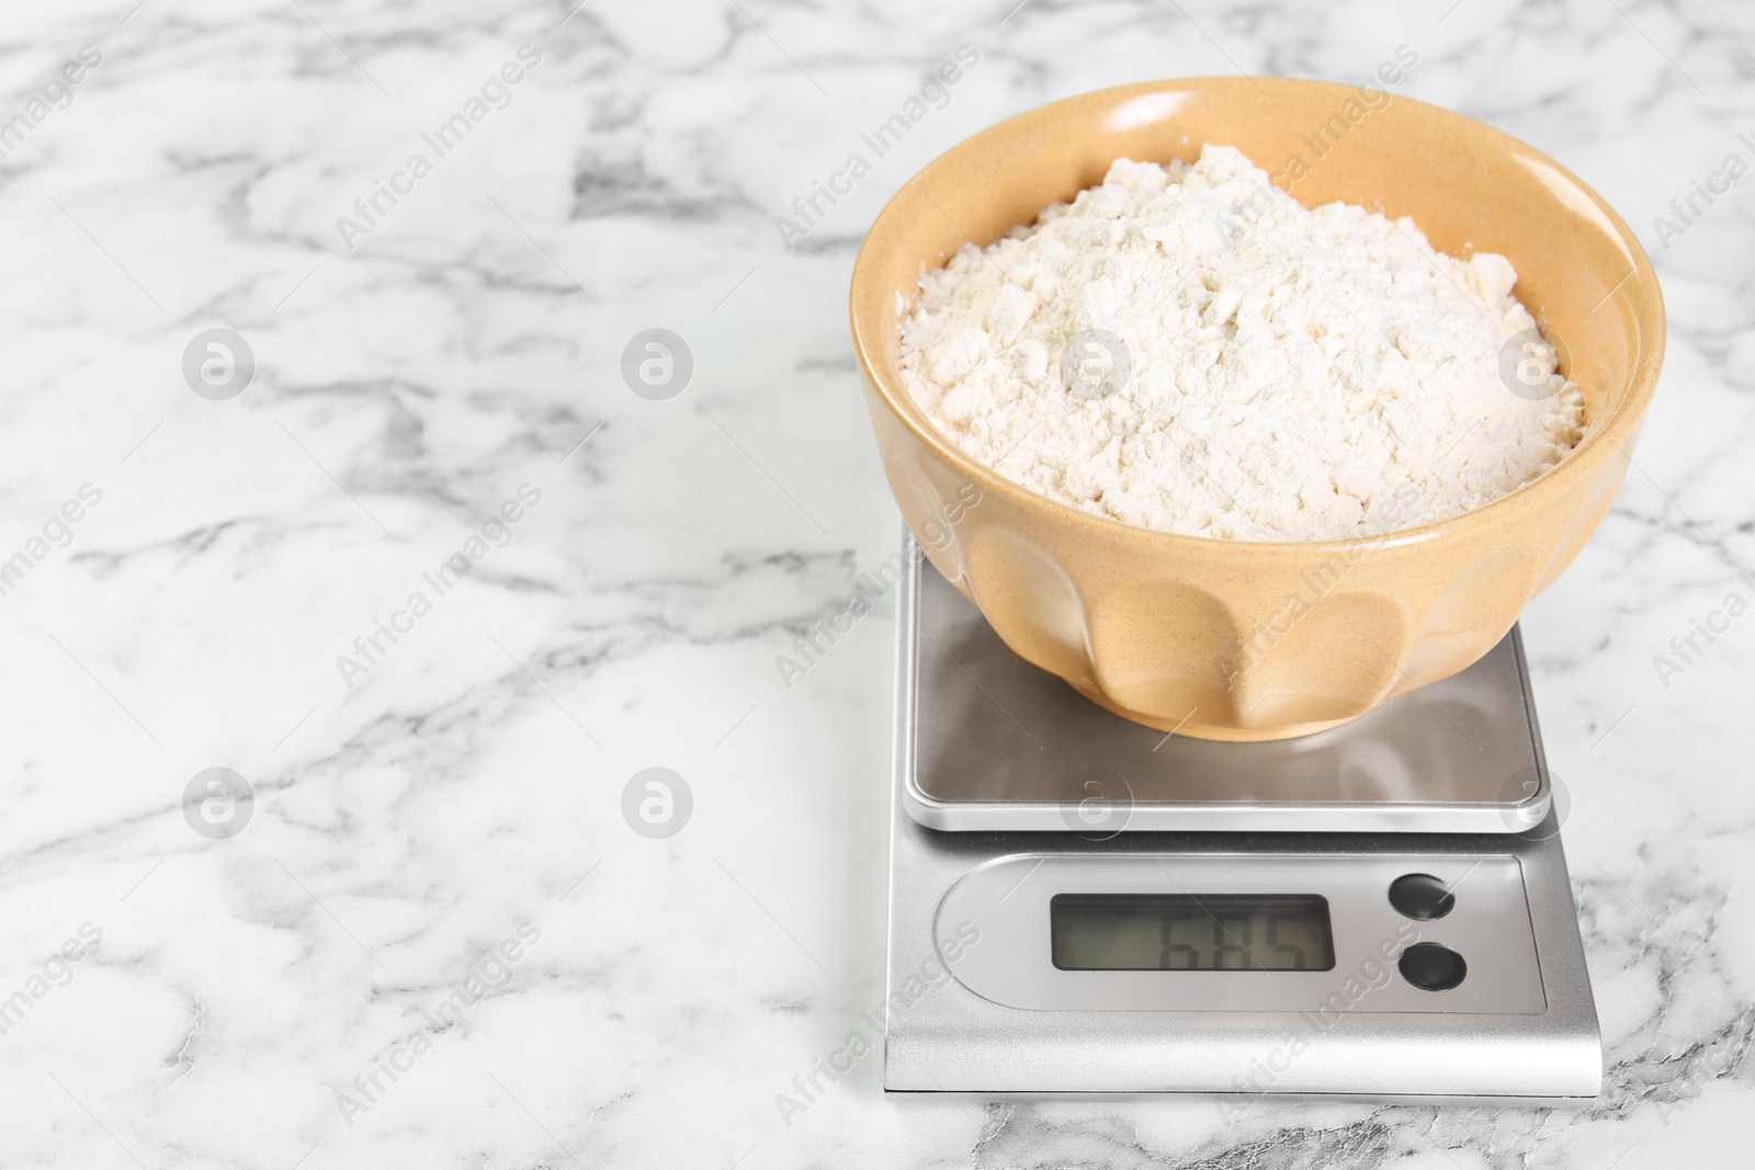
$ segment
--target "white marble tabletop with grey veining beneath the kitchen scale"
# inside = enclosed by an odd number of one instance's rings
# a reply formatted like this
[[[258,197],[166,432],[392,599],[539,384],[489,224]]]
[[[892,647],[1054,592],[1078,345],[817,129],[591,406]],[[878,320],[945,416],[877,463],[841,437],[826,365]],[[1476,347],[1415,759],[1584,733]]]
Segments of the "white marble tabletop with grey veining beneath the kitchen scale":
[[[1755,161],[1750,9],[132,4],[14,5],[0,32],[0,123],[23,116],[0,560],[25,558],[0,596],[0,1165],[1744,1152],[1755,617],[1674,677],[1653,656],[1755,596],[1755,179],[1680,235],[1653,216]],[[963,44],[948,103],[788,247],[776,218]],[[1044,100],[1362,79],[1404,44],[1402,93],[1620,207],[1671,309],[1637,470],[1523,626],[1599,1107],[886,1100],[872,1052],[783,1117],[883,998],[890,614],[792,688],[774,668],[895,531],[846,332],[862,230]],[[183,374],[212,328],[254,356],[225,400]],[[693,353],[679,396],[623,384],[648,328]],[[662,840],[621,814],[651,767],[693,798]],[[183,814],[207,768],[254,793],[232,837],[242,803]]]

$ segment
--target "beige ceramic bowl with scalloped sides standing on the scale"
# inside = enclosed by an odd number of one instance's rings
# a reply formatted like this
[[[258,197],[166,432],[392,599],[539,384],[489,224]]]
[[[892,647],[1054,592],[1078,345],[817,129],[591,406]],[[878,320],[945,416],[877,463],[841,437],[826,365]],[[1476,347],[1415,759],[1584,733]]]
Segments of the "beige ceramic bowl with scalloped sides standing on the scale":
[[[885,207],[853,267],[853,342],[897,503],[1011,649],[1128,719],[1185,735],[1306,735],[1485,654],[1595,530],[1664,356],[1632,232],[1546,154],[1492,126],[1314,81],[1158,81],[1055,102],[958,144]],[[1374,109],[1372,109],[1374,105]],[[1336,144],[1339,139],[1339,144]],[[1304,205],[1413,216],[1453,256],[1502,253],[1585,391],[1558,467],[1481,509],[1381,539],[1244,542],[1135,528],[1028,491],[914,405],[897,325],[923,268],[1102,181],[1114,158],[1239,147]],[[1313,144],[1329,153],[1316,158]],[[1509,391],[1508,391],[1509,393]]]

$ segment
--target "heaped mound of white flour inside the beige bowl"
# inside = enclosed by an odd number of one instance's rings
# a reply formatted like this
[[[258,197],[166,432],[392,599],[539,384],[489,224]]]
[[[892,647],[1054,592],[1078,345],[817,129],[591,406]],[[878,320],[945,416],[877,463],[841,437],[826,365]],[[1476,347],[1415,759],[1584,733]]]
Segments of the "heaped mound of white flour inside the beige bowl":
[[[1228,146],[1123,158],[925,274],[902,379],[967,454],[1086,512],[1371,537],[1495,500],[1578,444],[1581,395],[1515,282],[1411,219],[1306,210]]]

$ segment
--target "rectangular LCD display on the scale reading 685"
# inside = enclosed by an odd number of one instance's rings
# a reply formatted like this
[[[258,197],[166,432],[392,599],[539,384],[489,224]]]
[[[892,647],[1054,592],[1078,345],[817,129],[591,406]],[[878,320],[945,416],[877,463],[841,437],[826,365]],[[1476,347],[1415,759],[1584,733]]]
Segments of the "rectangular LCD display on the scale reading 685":
[[[1318,895],[1055,895],[1048,919],[1060,970],[1334,970]]]

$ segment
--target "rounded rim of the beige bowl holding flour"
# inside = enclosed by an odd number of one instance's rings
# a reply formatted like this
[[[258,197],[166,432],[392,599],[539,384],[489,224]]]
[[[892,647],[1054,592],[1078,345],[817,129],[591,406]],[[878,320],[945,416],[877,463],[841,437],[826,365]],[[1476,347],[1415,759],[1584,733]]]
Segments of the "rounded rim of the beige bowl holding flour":
[[[1023,484],[1002,475],[986,463],[965,454],[949,435],[942,433],[925,410],[914,403],[913,395],[902,384],[899,372],[885,360],[888,337],[881,325],[881,289],[872,288],[870,270],[879,263],[874,253],[874,239],[886,235],[881,228],[888,228],[904,214],[916,210],[921,198],[932,202],[927,193],[927,186],[934,177],[941,175],[946,168],[955,165],[956,158],[969,151],[978,142],[988,142],[999,137],[1006,137],[1025,130],[1032,125],[1042,125],[1053,121],[1072,107],[1092,107],[1100,105],[1104,109],[1113,109],[1127,100],[1137,98],[1141,95],[1151,93],[1174,93],[1183,89],[1200,89],[1206,93],[1213,91],[1241,91],[1244,86],[1271,88],[1302,88],[1313,93],[1327,91],[1332,96],[1351,95],[1357,86],[1334,81],[1316,81],[1306,77],[1165,77],[1158,81],[1139,81],[1125,86],[1109,86],[1104,89],[1090,89],[1086,93],[1078,93],[1072,96],[1058,98],[1044,105],[1023,111],[1002,121],[997,121],[967,139],[962,139],[949,149],[942,151],[930,163],[921,167],[907,182],[904,182],[893,196],[885,203],[878,218],[872,219],[870,228],[867,228],[863,240],[860,242],[860,251],[853,260],[853,275],[848,288],[848,310],[853,328],[853,351],[865,374],[867,384],[876,389],[876,393],[885,400],[890,412],[900,419],[900,423],[914,435],[916,440],[927,444],[941,460],[949,463],[958,474],[967,481],[974,482],[983,493],[993,491],[1002,498],[1007,498],[1013,505],[1034,510],[1048,510],[1055,514],[1060,521],[1074,524],[1074,528],[1088,530],[1092,535],[1106,539],[1132,539],[1144,540],[1148,544],[1158,546],[1164,553],[1183,551],[1183,553],[1211,553],[1221,547],[1244,547],[1258,554],[1309,554],[1309,553],[1343,553],[1355,551],[1360,547],[1381,549],[1397,547],[1406,544],[1423,544],[1427,540],[1437,540],[1460,533],[1465,530],[1479,528],[1481,524],[1490,524],[1497,517],[1506,516],[1506,507],[1516,503],[1520,507],[1537,505],[1541,498],[1553,496],[1564,491],[1572,481],[1581,475],[1588,475],[1590,468],[1601,460],[1608,458],[1609,449],[1620,451],[1627,465],[1632,465],[1632,453],[1627,451],[1623,444],[1625,439],[1636,432],[1644,410],[1651,402],[1651,395],[1657,389],[1658,372],[1664,365],[1664,344],[1667,337],[1665,328],[1665,310],[1664,310],[1664,293],[1657,281],[1657,272],[1651,268],[1651,260],[1646,256],[1644,246],[1627,226],[1627,221],[1609,207],[1609,203],[1597,195],[1597,191],[1572,174],[1567,167],[1560,165],[1543,151],[1536,149],[1529,142],[1516,139],[1497,126],[1460,114],[1457,111],[1436,105],[1432,102],[1422,102],[1413,96],[1395,95],[1397,102],[1409,102],[1413,105],[1422,105],[1437,118],[1455,119],[1458,123],[1467,123],[1472,133],[1483,135],[1488,142],[1497,142],[1501,149],[1509,154],[1536,160],[1562,179],[1571,182],[1590,203],[1602,212],[1608,223],[1615,228],[1623,249],[1634,261],[1634,268],[1622,277],[1604,296],[1602,303],[1611,298],[1627,296],[1630,298],[1630,312],[1634,319],[1634,353],[1629,363],[1629,386],[1623,402],[1608,412],[1608,417],[1601,423],[1585,417],[1585,435],[1580,439],[1578,446],[1567,451],[1558,463],[1551,468],[1541,472],[1527,484],[1513,488],[1502,496],[1488,500],[1486,503],[1458,512],[1457,516],[1448,516],[1429,524],[1415,524],[1408,528],[1392,528],[1376,535],[1362,537],[1325,537],[1320,540],[1248,540],[1234,537],[1200,537],[1193,533],[1181,531],[1164,531],[1160,528],[1146,528],[1143,524],[1134,524],[1130,521],[1116,519],[1113,516],[1099,516],[1095,512],[1086,512],[1085,509],[1074,507],[1046,496],[1039,491],[1025,488]],[[965,233],[967,239],[967,233]],[[925,272],[925,267],[923,267]],[[1641,295],[1643,293],[1643,295]],[[1597,309],[1602,307],[1597,305]],[[1595,312],[1597,309],[1592,309]],[[1499,509],[1495,512],[1495,509]]]

